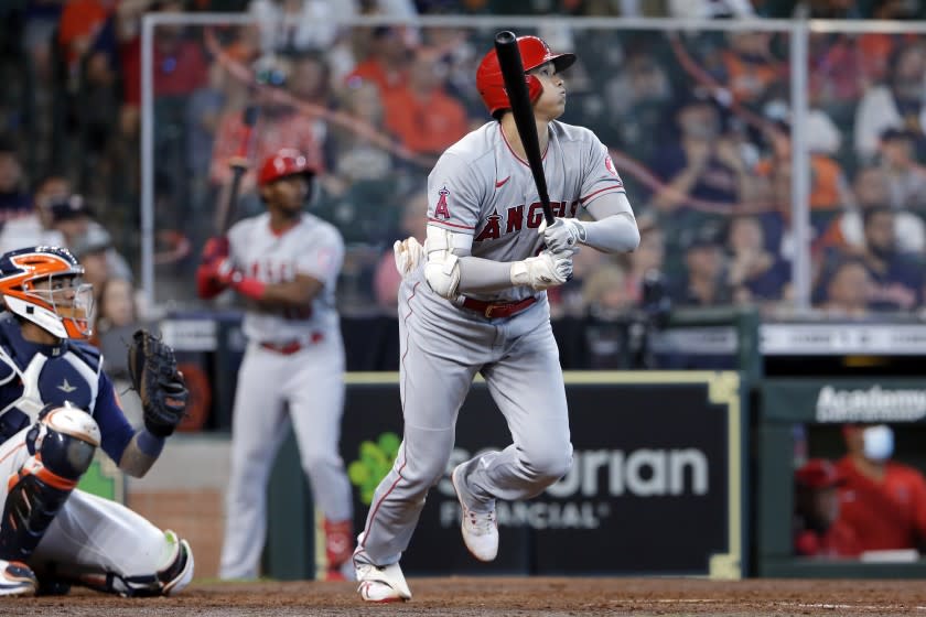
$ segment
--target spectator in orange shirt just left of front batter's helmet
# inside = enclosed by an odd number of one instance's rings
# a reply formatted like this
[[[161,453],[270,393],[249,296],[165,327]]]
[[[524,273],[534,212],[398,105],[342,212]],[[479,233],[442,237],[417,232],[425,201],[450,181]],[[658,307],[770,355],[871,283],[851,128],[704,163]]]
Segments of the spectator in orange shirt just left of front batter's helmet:
[[[408,86],[383,104],[386,128],[412,152],[440,154],[469,130],[466,110],[444,91],[441,59],[430,50],[416,51]]]

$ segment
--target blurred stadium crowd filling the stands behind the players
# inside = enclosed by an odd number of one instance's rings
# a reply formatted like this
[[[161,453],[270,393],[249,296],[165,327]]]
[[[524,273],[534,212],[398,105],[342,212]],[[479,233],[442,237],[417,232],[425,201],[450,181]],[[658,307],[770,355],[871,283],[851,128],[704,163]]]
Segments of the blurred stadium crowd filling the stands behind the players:
[[[213,232],[227,187],[241,109],[256,100],[261,116],[252,160],[293,145],[322,172],[312,207],[348,245],[340,288],[346,315],[395,310],[391,242],[408,234],[423,239],[421,192],[435,155],[489,119],[473,73],[493,31],[345,28],[337,20],[926,15],[926,2],[875,0],[2,4],[0,72],[8,87],[0,95],[0,218],[7,227],[25,221],[31,237],[60,238],[82,259],[105,255],[100,281],[131,282],[140,250],[141,18],[246,12],[251,25],[154,29],[154,106],[144,112],[154,118],[158,283],[169,290],[163,297],[195,302],[198,247]],[[551,45],[580,58],[567,75],[563,121],[592,128],[612,149],[643,234],[639,250],[626,257],[583,250],[574,279],[551,292],[557,315],[620,318],[647,302],[654,281],[658,299],[672,306],[755,305],[787,315],[797,255],[787,36],[545,28],[540,34]],[[926,39],[814,33],[809,56],[812,306],[836,317],[918,312]],[[78,206],[75,194],[83,196]],[[238,214],[259,209],[250,173]],[[19,234],[6,236],[15,242]]]

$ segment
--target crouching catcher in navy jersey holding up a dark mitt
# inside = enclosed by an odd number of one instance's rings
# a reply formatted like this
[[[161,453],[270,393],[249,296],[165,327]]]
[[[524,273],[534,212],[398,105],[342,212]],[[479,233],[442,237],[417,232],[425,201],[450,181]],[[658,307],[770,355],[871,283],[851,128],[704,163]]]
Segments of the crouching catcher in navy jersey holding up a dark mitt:
[[[67,250],[0,257],[0,595],[84,585],[171,595],[193,577],[185,540],[114,501],[76,490],[97,447],[133,477],[151,468],[186,407],[173,350],[136,333],[129,367],[144,408],[134,432],[87,343],[93,289]]]

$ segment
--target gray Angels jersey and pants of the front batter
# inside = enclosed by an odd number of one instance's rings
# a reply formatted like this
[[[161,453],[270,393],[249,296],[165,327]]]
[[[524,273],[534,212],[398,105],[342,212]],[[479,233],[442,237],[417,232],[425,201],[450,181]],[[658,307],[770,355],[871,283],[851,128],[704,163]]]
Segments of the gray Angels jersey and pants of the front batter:
[[[551,122],[543,153],[554,213],[574,217],[599,195],[624,191],[606,148],[589,130]],[[510,149],[498,122],[452,145],[428,180],[429,225],[473,236],[472,255],[516,261],[537,255],[543,220],[530,167]],[[569,469],[572,446],[559,350],[546,292],[528,286],[474,296],[537,302],[489,318],[435,294],[423,267],[399,291],[402,445],[377,488],[355,562],[395,563],[408,546],[424,496],[450,469],[456,414],[481,374],[507,420],[513,444],[463,464],[461,498],[474,511],[495,499],[526,499]]]

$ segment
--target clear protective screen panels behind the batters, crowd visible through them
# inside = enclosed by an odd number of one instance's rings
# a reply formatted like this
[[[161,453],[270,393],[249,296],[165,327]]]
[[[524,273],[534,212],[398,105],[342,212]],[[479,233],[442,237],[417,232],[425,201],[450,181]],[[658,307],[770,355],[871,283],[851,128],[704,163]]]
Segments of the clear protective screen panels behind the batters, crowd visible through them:
[[[311,212],[334,223],[348,245],[341,307],[377,310],[379,288],[395,284],[384,273],[391,242],[422,238],[430,167],[489,120],[474,73],[504,28],[472,20],[316,30],[200,22],[157,23],[151,39],[153,299],[196,303],[198,250],[215,234],[241,110],[257,102],[236,216],[262,210],[254,190],[259,161],[279,147],[302,149],[323,170]],[[633,256],[580,253],[575,282],[552,294],[563,312],[638,303],[652,270],[663,272],[676,305],[787,310],[795,260],[812,264],[810,290],[799,291],[815,306],[851,313],[859,294],[873,294],[875,307],[919,306],[922,284],[907,264],[923,256],[926,213],[922,37],[809,35],[801,141],[810,239],[799,243],[790,232],[789,32],[529,23],[507,28],[578,54],[566,74],[562,120],[609,145],[644,229]],[[903,221],[896,242],[882,242],[905,252],[898,281],[859,266],[871,252],[864,221],[877,218],[864,213],[880,206]],[[893,293],[897,282],[912,295]]]

